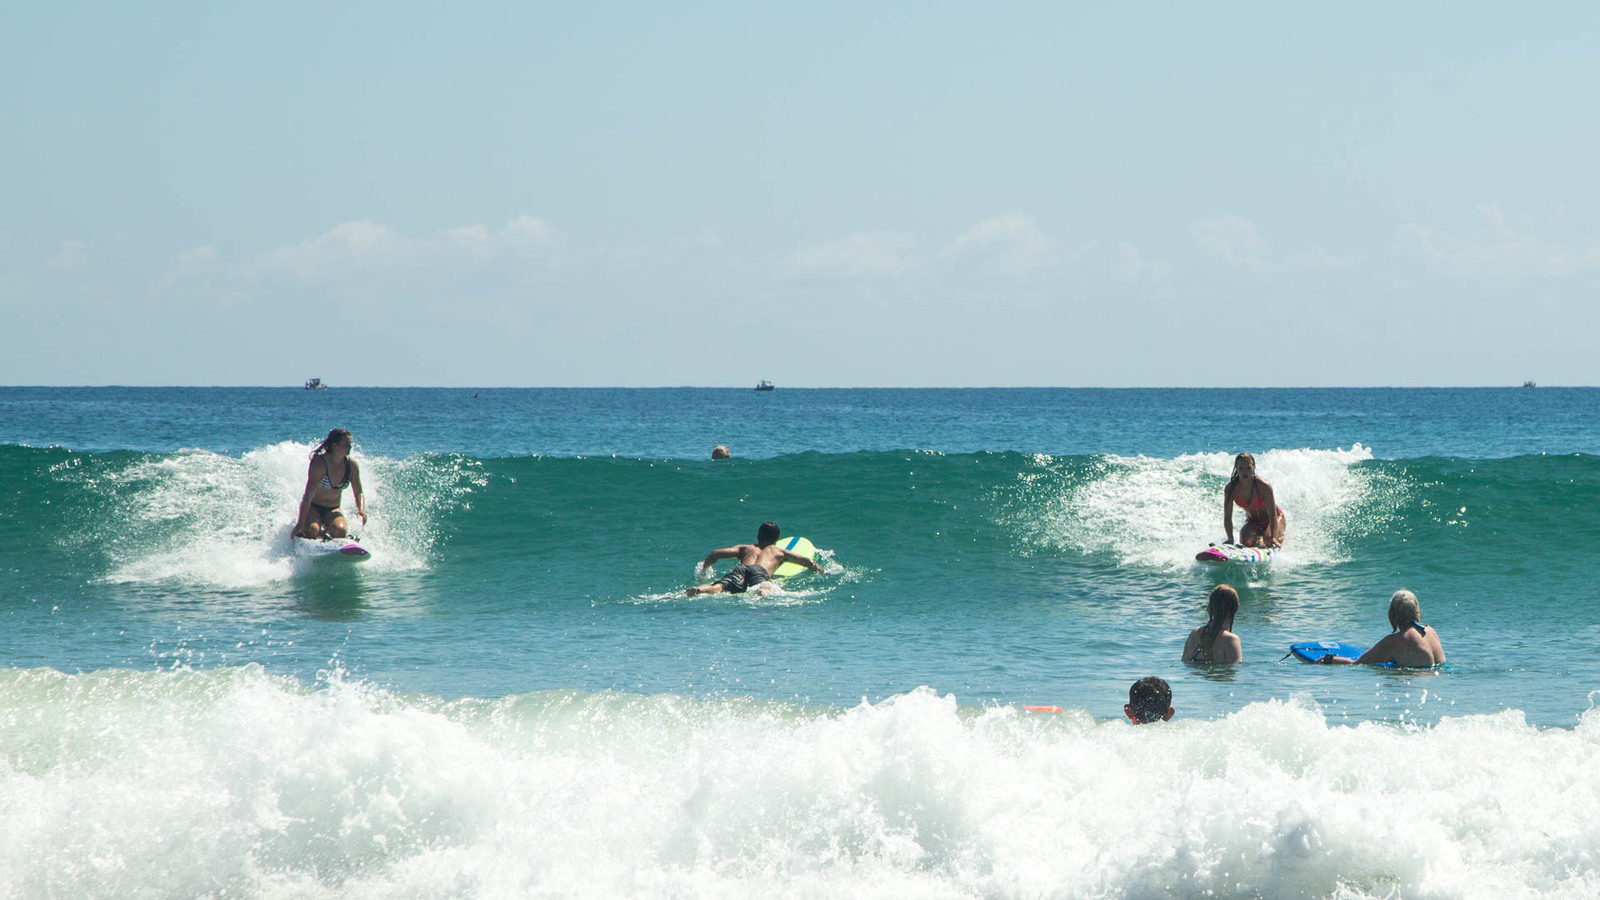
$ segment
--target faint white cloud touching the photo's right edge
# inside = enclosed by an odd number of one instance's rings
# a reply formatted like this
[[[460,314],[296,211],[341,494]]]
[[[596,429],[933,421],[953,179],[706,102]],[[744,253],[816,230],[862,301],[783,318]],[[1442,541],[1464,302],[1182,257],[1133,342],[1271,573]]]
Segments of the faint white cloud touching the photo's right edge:
[[[1506,221],[1499,203],[1478,203],[1477,227],[1461,235],[1406,223],[1395,231],[1395,250],[1461,277],[1562,277],[1600,267],[1600,240],[1525,234]]]

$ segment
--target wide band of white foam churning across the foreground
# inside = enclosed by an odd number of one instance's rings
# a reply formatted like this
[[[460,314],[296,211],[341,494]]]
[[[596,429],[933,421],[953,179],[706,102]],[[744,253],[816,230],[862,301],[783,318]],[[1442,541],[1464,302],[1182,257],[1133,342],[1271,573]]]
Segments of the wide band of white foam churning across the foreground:
[[[0,671],[0,897],[1594,897],[1600,717]]]

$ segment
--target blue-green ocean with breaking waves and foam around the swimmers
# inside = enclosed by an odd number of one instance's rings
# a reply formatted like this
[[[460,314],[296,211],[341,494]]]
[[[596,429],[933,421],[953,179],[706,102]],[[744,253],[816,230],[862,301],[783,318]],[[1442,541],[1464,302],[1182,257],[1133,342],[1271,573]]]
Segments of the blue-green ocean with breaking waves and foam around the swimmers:
[[[1600,895],[1600,389],[0,388],[0,897]]]

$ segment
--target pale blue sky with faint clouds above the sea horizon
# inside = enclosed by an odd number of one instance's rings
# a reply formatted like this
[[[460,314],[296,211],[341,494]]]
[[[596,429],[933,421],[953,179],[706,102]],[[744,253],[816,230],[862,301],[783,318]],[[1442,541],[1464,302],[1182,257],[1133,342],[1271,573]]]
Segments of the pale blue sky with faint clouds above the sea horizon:
[[[1285,6],[11,3],[0,384],[1600,384],[1600,5]]]

